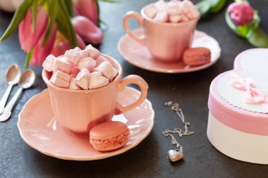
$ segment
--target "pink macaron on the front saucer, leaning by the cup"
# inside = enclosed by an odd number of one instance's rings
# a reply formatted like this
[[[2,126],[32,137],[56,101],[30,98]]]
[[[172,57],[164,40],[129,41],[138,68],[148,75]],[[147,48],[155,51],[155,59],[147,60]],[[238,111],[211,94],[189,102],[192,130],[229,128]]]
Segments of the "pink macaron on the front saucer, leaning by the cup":
[[[97,151],[114,151],[128,142],[129,129],[123,122],[102,122],[90,130],[90,144]]]

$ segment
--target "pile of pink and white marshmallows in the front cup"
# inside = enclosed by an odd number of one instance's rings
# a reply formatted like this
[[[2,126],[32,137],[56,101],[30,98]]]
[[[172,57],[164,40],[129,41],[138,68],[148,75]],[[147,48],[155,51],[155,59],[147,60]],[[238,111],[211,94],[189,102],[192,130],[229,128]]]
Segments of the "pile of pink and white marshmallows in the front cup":
[[[66,89],[96,89],[113,81],[118,70],[92,45],[76,47],[63,56],[47,56],[44,70],[53,72],[50,82]]]

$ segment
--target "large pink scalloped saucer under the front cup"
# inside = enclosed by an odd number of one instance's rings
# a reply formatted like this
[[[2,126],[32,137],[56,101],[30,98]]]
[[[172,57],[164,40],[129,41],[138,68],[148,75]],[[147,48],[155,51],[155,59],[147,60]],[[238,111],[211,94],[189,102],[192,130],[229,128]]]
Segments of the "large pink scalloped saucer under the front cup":
[[[118,93],[122,104],[137,99],[140,91],[126,87]],[[20,136],[37,151],[63,160],[99,160],[118,155],[140,144],[154,125],[154,110],[147,99],[137,108],[115,115],[112,120],[128,125],[129,141],[126,146],[110,152],[99,152],[90,144],[89,135],[76,135],[61,127],[54,119],[47,89],[33,96],[18,116]]]

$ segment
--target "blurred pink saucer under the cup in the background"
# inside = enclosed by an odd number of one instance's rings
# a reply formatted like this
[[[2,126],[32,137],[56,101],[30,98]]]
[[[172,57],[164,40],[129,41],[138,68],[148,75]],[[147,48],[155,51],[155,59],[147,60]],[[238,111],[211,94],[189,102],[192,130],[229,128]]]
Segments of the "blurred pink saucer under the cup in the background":
[[[133,33],[137,36],[144,35],[144,31],[141,28],[133,30]],[[216,41],[216,39],[205,34],[205,32],[195,30],[192,46],[206,47],[210,49],[212,52],[211,62],[197,67],[190,67],[189,65],[185,65],[183,61],[178,63],[162,63],[156,61],[154,58],[152,58],[146,46],[139,44],[134,39],[130,38],[128,34],[121,37],[119,40],[118,51],[121,53],[121,56],[128,61],[128,63],[131,63],[138,68],[163,73],[183,73],[202,70],[216,63],[216,61],[219,59],[219,56],[221,56],[221,48],[219,43]]]

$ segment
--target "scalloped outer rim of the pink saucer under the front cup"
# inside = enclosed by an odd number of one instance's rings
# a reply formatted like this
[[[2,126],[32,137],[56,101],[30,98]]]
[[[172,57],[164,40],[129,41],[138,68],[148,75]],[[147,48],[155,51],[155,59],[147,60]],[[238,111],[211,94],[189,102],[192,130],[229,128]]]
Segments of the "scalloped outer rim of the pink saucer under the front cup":
[[[137,89],[134,89],[133,87],[126,87],[126,88],[132,90],[136,94],[140,94],[140,91],[138,91]],[[39,151],[40,153],[43,153],[44,155],[49,155],[51,157],[59,158],[61,160],[79,160],[79,161],[102,160],[104,158],[109,158],[109,157],[112,157],[115,155],[120,155],[122,153],[125,153],[126,151],[129,151],[131,148],[138,146],[138,144],[140,144],[150,134],[150,132],[152,132],[152,128],[154,127],[155,112],[154,112],[154,109],[152,108],[151,101],[149,101],[146,98],[145,101],[143,101],[142,103],[144,103],[144,102],[148,103],[148,106],[149,106],[148,110],[151,110],[152,114],[150,117],[148,117],[149,125],[148,125],[145,133],[134,144],[130,144],[129,146],[123,146],[122,148],[119,148],[115,151],[104,152],[100,156],[95,156],[95,157],[90,157],[90,156],[89,157],[85,157],[85,156],[83,156],[83,157],[75,157],[75,156],[70,157],[70,156],[63,156],[63,155],[57,155],[54,153],[50,153],[48,151],[44,151],[42,148],[39,148],[38,146],[35,146],[35,144],[31,143],[31,141],[26,139],[25,132],[23,131],[23,125],[22,125],[23,120],[25,119],[25,117],[23,117],[23,116],[25,116],[25,113],[28,111],[29,104],[38,100],[39,98],[42,98],[42,95],[44,95],[46,92],[49,92],[48,89],[44,89],[39,94],[35,94],[25,103],[25,105],[23,106],[23,109],[18,114],[18,122],[17,122],[17,127],[18,127],[18,130],[20,132],[20,136],[23,139],[23,141],[25,141],[25,143],[28,144],[28,146],[30,146],[31,148],[34,148],[36,151]]]

